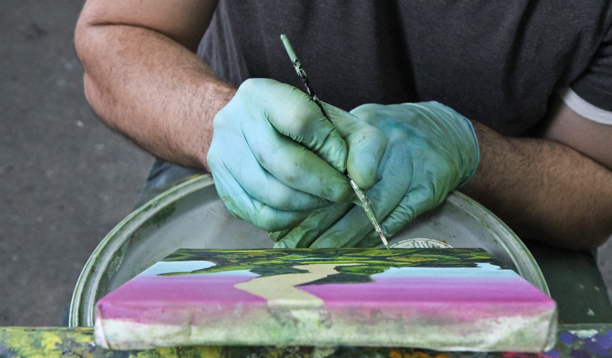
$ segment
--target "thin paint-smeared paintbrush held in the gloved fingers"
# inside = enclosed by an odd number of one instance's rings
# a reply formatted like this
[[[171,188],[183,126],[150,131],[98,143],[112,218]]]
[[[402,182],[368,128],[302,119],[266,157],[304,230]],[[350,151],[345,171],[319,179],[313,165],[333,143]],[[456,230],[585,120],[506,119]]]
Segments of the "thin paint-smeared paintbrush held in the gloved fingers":
[[[321,101],[319,101],[319,98],[316,97],[315,90],[312,88],[310,81],[308,81],[308,77],[306,76],[304,68],[302,68],[300,61],[297,59],[296,53],[295,51],[293,51],[291,43],[289,43],[289,39],[284,34],[280,35],[280,39],[283,41],[283,45],[285,45],[285,50],[289,55],[289,59],[291,59],[291,62],[293,62],[293,67],[296,68],[297,75],[299,75],[300,79],[302,79],[302,83],[304,84],[306,92],[308,92],[308,96],[310,96],[310,100],[312,100],[316,103],[317,106],[319,106],[319,109],[321,109],[321,113],[323,113],[327,120],[329,120],[329,117],[327,117],[327,113],[325,112]],[[351,179],[350,175],[346,174],[346,177],[348,177],[348,181],[349,183],[351,183],[351,187],[355,191],[355,194],[357,194],[357,198],[359,198],[359,201],[361,202],[361,205],[365,210],[365,214],[367,214],[368,218],[372,222],[372,225],[374,225],[374,228],[378,233],[378,236],[381,238],[381,241],[383,241],[384,246],[387,248],[387,250],[389,250],[389,242],[384,236],[383,228],[381,228],[381,225],[378,224],[378,220],[376,220],[376,215],[374,214],[374,210],[372,210],[372,203],[370,202],[370,199],[368,199],[367,195],[365,195],[365,192],[361,188],[359,188],[359,186],[357,186],[353,179]]]

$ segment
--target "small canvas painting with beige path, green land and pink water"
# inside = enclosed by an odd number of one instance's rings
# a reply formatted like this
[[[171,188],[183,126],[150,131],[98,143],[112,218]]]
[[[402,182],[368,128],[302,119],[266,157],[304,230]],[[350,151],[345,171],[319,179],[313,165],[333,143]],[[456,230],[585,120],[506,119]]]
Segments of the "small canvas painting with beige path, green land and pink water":
[[[481,249],[177,250],[100,299],[95,339],[542,351],[556,304]]]

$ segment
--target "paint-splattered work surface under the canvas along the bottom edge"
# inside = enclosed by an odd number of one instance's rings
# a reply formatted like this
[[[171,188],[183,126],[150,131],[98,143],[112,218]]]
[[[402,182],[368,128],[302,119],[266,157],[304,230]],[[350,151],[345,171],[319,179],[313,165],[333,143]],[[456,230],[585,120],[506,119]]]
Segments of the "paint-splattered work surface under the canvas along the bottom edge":
[[[410,348],[313,348],[196,346],[147,351],[108,351],[94,344],[92,327],[0,327],[0,357],[390,357],[390,358],[589,358],[612,357],[612,324],[561,325],[554,349],[546,353],[449,353]]]

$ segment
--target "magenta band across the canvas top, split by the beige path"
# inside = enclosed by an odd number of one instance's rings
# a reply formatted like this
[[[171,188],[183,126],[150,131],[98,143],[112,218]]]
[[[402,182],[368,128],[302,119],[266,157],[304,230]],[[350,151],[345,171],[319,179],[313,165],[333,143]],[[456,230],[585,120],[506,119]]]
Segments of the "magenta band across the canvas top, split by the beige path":
[[[239,282],[252,277],[136,277],[108,294],[106,301],[159,300],[159,301],[264,301],[257,296],[234,288]],[[334,302],[548,302],[537,288],[520,277],[501,280],[477,278],[378,278],[370,283],[329,283],[304,285],[300,290],[315,294],[328,304]]]

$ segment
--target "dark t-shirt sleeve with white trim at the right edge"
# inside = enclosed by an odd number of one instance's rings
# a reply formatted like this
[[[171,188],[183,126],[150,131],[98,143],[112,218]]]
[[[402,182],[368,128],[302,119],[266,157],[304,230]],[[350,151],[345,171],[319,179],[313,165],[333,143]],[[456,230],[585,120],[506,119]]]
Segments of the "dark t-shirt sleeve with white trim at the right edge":
[[[560,94],[574,112],[612,125],[612,29],[603,38],[589,67]]]

